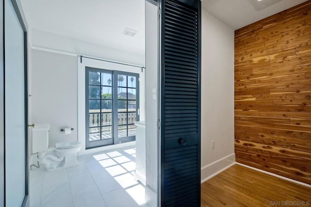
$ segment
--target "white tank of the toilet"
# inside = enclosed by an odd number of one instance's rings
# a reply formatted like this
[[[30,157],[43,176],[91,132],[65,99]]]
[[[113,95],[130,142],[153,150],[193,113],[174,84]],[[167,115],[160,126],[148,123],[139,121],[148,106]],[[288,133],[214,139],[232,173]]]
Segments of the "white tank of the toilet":
[[[46,152],[49,146],[50,124],[36,124],[33,128],[33,153]]]

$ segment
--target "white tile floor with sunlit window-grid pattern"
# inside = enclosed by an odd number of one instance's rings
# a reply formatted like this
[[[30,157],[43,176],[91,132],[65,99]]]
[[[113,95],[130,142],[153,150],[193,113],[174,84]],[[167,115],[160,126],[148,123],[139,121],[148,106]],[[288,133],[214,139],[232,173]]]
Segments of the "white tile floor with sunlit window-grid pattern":
[[[133,177],[135,148],[78,157],[79,165],[30,171],[30,207],[147,207]]]

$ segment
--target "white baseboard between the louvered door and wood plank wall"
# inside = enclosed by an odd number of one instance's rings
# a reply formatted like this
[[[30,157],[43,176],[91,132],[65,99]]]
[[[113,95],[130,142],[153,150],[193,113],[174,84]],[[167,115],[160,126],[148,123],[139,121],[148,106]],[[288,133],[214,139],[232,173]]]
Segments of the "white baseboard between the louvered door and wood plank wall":
[[[220,174],[224,170],[228,169],[235,164],[235,153],[225,156],[222,159],[218,159],[201,168],[201,183],[204,183],[208,179],[215,175]]]

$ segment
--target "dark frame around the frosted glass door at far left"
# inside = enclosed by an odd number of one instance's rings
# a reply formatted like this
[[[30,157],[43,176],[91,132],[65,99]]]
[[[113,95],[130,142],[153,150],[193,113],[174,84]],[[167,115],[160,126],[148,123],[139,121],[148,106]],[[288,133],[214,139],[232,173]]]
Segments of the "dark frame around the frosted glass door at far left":
[[[16,0],[11,0],[14,9],[16,11],[17,17],[19,19],[20,25],[23,29],[24,32],[24,80],[25,80],[25,85],[24,85],[24,96],[25,96],[25,197],[22,203],[22,207],[28,207],[29,206],[29,168],[28,168],[28,162],[29,162],[29,157],[28,157],[28,31],[27,31],[27,23],[24,21],[24,18],[19,10],[19,6]],[[0,23],[0,38],[2,39],[2,43],[0,45],[0,80],[3,82],[3,84],[0,85],[0,97],[1,101],[0,102],[0,111],[2,112],[3,116],[0,118],[0,157],[3,158],[0,160],[0,172],[2,172],[3,169],[3,174],[1,173],[0,177],[0,200],[3,201],[3,203],[0,203],[0,207],[3,205],[5,206],[6,204],[6,198],[5,198],[5,94],[4,94],[4,88],[5,88],[5,78],[4,78],[4,73],[5,73],[5,46],[4,46],[4,3],[0,5],[0,16],[1,16],[1,23]],[[26,24],[25,24],[26,23]],[[3,199],[1,199],[3,198]]]

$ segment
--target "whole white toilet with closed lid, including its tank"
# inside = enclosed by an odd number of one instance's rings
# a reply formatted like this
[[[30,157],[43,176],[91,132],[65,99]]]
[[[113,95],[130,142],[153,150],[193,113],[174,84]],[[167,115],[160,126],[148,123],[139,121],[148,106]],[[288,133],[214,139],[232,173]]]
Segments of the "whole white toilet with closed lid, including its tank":
[[[33,128],[32,152],[37,153],[39,163],[47,171],[78,165],[77,153],[81,149],[81,142],[61,142],[48,147],[49,130],[50,124],[36,124]]]

